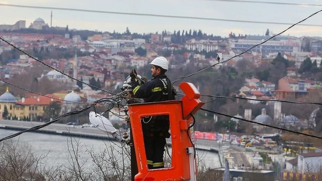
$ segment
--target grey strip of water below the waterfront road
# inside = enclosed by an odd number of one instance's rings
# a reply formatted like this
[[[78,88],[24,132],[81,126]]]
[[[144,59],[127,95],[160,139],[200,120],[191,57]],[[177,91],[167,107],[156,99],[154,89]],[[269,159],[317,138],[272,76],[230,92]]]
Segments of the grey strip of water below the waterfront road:
[[[14,130],[7,130],[7,129],[0,129],[0,137],[6,137],[11,134],[16,133],[17,131]],[[28,132],[23,133],[18,137],[12,138],[12,140],[17,141],[19,139],[20,144],[26,144],[30,147],[31,151],[36,154],[40,155],[43,152],[49,152],[48,156],[46,157],[46,164],[48,166],[59,166],[64,165],[68,166],[68,157],[69,151],[68,151],[68,140],[70,141],[70,137],[67,136],[60,136],[60,135],[50,135],[50,134],[43,134],[43,133],[34,133],[34,132]],[[75,143],[75,140],[78,140],[79,138],[72,137],[73,143]],[[82,150],[79,157],[79,160],[81,162],[83,160],[88,160],[85,163],[86,167],[90,167],[92,165],[91,162],[91,156],[86,152],[85,146],[90,149],[93,147],[94,152],[99,153],[104,148],[111,147],[114,149],[113,154],[119,157],[118,151],[121,151],[121,148],[118,148],[119,144],[118,142],[113,141],[102,141],[98,139],[89,139],[89,138],[80,138]],[[107,146],[106,146],[107,145]],[[170,151],[171,153],[171,151]],[[207,152],[207,151],[201,151],[197,150],[197,154],[200,158],[202,158],[201,163],[204,163],[206,167],[210,168],[217,168],[220,167],[219,157],[217,153],[214,152]]]

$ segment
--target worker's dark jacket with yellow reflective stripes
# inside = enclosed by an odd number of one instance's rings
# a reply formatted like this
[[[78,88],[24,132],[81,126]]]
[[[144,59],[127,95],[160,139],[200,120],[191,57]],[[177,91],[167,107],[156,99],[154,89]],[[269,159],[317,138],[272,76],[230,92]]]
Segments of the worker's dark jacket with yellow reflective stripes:
[[[162,81],[160,81],[162,80]],[[170,91],[167,89],[167,84],[170,84]],[[132,91],[135,98],[143,98],[144,102],[160,102],[165,100],[174,100],[173,86],[171,81],[165,74],[159,74],[151,81],[145,82],[143,85],[139,85],[134,79],[131,79]],[[162,89],[165,91],[162,91]],[[171,98],[165,93],[169,93]]]

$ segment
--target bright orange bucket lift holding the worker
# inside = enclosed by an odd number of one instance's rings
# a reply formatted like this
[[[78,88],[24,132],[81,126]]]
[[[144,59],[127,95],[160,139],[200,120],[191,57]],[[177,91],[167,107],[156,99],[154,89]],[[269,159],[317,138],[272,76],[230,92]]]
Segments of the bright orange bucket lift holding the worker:
[[[138,168],[135,181],[196,180],[193,129],[189,129],[189,126],[192,125],[192,115],[204,103],[199,100],[200,93],[194,84],[182,82],[179,87],[185,93],[181,100],[128,105]],[[169,116],[172,142],[171,167],[148,169],[141,119],[145,116],[159,115]]]

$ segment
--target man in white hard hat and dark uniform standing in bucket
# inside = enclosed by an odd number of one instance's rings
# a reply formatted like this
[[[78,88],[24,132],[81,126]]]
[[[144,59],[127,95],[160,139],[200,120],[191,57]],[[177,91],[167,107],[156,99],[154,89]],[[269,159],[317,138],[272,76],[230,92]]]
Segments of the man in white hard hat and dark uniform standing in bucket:
[[[165,75],[168,61],[165,57],[156,57],[152,62],[151,74],[154,77],[139,85],[137,73],[130,72],[131,86],[135,98],[143,98],[145,102],[175,100],[175,89]],[[141,119],[145,151],[149,169],[164,168],[163,153],[166,138],[170,138],[169,115],[149,116]]]

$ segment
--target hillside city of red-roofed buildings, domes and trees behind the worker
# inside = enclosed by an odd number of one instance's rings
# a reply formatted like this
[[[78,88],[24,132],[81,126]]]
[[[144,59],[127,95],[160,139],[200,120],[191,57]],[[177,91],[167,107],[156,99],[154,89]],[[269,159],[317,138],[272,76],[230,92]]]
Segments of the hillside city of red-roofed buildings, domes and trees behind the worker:
[[[231,59],[274,35],[269,27],[261,35],[227,32],[227,37],[209,35],[202,30],[161,30],[139,34],[131,32],[130,28],[124,32],[76,30],[68,25],[51,27],[42,18],[37,18],[30,26],[24,20],[0,25],[0,36],[74,78],[118,93],[132,68],[151,79],[149,63],[157,56],[164,56],[169,61],[166,74],[174,81]],[[91,103],[107,96],[40,64],[4,41],[0,41],[0,62],[0,79],[48,96],[1,82],[0,119],[48,122],[82,107],[62,100]],[[206,109],[321,136],[320,106],[264,101],[322,102],[321,63],[322,37],[282,34],[228,62],[180,81],[193,82],[202,95],[248,99],[214,100],[215,97],[204,96],[201,100],[209,101],[204,105]],[[182,93],[178,83],[174,87]],[[104,106],[96,109],[105,110]],[[118,111],[117,108],[113,110]],[[85,111],[58,122],[89,123],[88,113]],[[280,180],[297,178],[303,181],[309,176],[308,167],[312,168],[311,172],[321,169],[322,144],[318,139],[204,111],[198,111],[195,118],[194,138],[213,140],[219,145],[225,142],[245,152],[240,156],[237,152],[228,155],[225,150],[219,150],[221,157],[232,157],[229,161],[231,168],[273,170],[274,173],[261,173],[280,177]],[[125,120],[115,115],[109,119],[115,122],[115,127],[128,129]],[[255,148],[255,155],[249,155],[249,150]],[[239,156],[247,160],[233,161],[233,157]],[[311,165],[305,167],[305,163]]]

